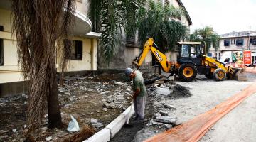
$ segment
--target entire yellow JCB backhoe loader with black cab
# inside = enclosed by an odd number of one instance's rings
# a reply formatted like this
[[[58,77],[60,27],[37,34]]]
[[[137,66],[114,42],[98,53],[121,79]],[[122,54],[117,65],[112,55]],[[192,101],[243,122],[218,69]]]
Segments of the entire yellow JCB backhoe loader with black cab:
[[[225,67],[225,63],[206,56],[206,46],[200,42],[178,42],[178,57],[176,62],[167,61],[166,55],[159,50],[153,38],[149,38],[144,44],[139,57],[134,59],[133,64],[139,68],[149,50],[159,61],[164,72],[178,75],[182,81],[192,81],[197,74],[203,74],[207,78],[215,78],[221,81],[237,79],[242,72],[240,68]]]

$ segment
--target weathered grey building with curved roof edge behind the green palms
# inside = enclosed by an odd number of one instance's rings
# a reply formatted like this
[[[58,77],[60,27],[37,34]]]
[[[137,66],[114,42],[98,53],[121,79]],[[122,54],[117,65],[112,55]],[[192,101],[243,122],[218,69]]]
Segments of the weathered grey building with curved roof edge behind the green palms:
[[[184,10],[183,16],[181,16],[180,19],[175,19],[176,21],[180,21],[188,28],[191,26],[192,21],[188,14],[188,11],[186,11],[185,6],[181,2],[181,0],[156,0],[161,2],[163,5],[173,5],[176,8],[181,7]],[[123,32],[124,33],[124,32]],[[124,39],[124,43],[122,43],[122,47],[120,47],[117,50],[116,55],[112,58],[110,65],[105,64],[104,58],[102,58],[103,53],[98,52],[98,68],[99,69],[124,69],[125,67],[131,67],[132,61],[135,57],[137,57],[142,50],[143,47],[139,46],[137,35],[134,35],[134,37],[125,37],[125,35],[122,35],[122,38]],[[166,57],[168,60],[174,62],[176,61],[177,53],[176,52],[169,52],[166,53]],[[144,63],[142,66],[149,67],[152,64],[152,55],[149,54],[146,56]],[[142,69],[143,67],[141,67]]]

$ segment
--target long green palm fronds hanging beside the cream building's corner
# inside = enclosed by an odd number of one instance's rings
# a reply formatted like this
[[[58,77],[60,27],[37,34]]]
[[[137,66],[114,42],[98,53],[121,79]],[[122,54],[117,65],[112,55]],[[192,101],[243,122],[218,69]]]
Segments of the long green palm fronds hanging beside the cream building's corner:
[[[144,0],[90,0],[92,31],[102,33],[100,49],[108,64],[122,42],[122,28],[127,34],[136,30],[134,21],[143,3]]]

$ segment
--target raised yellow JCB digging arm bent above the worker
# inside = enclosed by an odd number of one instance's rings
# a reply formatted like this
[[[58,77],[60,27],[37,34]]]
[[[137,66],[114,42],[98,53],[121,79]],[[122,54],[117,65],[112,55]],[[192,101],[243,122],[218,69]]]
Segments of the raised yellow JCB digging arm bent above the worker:
[[[167,61],[166,55],[164,53],[161,53],[159,50],[157,50],[154,47],[154,40],[153,38],[149,38],[149,40],[146,41],[144,44],[144,48],[142,52],[139,54],[139,57],[135,58],[134,62],[132,62],[134,65],[139,68],[143,61],[146,58],[146,55],[149,53],[149,50],[153,53],[153,55],[156,57],[156,59],[160,62],[162,69],[164,72],[170,72],[171,69],[171,62]]]

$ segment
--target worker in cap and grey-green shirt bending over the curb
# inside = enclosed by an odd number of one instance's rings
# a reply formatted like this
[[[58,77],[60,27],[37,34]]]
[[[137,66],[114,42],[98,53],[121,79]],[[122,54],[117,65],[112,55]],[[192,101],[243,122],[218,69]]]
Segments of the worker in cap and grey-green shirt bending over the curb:
[[[134,111],[137,120],[144,120],[145,117],[145,105],[146,105],[146,88],[142,72],[139,70],[132,70],[131,68],[125,69],[125,75],[132,79],[132,89],[134,91]]]

